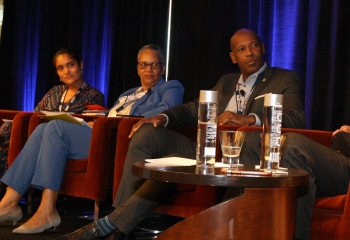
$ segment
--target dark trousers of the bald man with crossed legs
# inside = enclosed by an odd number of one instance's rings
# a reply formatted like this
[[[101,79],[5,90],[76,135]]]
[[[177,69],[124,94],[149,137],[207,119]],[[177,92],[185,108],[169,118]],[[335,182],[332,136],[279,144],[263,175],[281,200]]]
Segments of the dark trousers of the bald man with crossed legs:
[[[132,164],[171,153],[195,154],[195,143],[182,134],[151,124],[142,126],[132,137],[125,159],[123,177],[109,219],[122,232],[130,233],[154,208],[167,201],[175,184],[144,180],[132,174]]]

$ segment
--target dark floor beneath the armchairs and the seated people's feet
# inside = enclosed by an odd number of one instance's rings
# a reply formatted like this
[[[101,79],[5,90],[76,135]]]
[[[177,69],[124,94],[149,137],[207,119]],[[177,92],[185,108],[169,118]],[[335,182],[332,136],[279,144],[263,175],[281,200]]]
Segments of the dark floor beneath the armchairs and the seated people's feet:
[[[40,203],[40,194],[41,192],[39,190],[34,191],[33,212],[35,212]],[[100,217],[103,217],[113,211],[113,208],[111,207],[112,197],[107,198],[110,199],[110,201],[101,203]],[[43,233],[39,234],[14,234],[12,233],[12,230],[26,222],[32,215],[26,213],[28,207],[26,198],[21,199],[20,206],[23,211],[23,218],[18,221],[15,226],[13,226],[12,222],[0,223],[0,240],[54,239],[66,233],[73,232],[93,221],[92,210],[94,202],[92,200],[60,196],[57,201],[57,210],[61,217],[61,224],[55,229],[55,231],[53,231],[53,229],[47,229]],[[151,213],[149,217],[140,223],[139,226],[128,236],[128,240],[154,239],[160,232],[181,220],[182,218]]]

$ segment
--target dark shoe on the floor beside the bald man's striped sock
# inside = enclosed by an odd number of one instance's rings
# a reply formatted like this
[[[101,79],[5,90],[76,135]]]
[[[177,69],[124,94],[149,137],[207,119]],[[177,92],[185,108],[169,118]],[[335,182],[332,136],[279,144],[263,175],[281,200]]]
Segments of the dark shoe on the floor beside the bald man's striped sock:
[[[104,237],[95,222],[86,225],[75,232],[55,238],[54,240],[94,240]]]

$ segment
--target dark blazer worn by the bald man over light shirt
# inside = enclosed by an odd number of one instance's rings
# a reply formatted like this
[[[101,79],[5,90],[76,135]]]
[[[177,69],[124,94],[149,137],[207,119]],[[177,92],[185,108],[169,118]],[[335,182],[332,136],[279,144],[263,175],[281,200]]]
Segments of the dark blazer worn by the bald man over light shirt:
[[[240,73],[223,75],[212,89],[219,92],[218,114],[226,109],[232,98]],[[266,93],[283,94],[282,127],[304,128],[304,100],[301,93],[300,79],[290,70],[266,66],[257,78],[257,85],[251,93],[244,114],[254,113],[263,119],[264,98],[255,97]],[[168,127],[196,124],[198,121],[198,99],[173,107],[163,112],[169,118]]]

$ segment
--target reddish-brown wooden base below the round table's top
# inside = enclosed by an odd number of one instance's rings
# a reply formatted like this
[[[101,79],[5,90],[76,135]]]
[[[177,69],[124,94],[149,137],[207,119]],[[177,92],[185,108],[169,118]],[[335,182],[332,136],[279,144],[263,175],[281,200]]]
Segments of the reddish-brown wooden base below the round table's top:
[[[243,195],[168,228],[158,235],[157,240],[291,240],[296,191],[296,188],[246,188]]]

